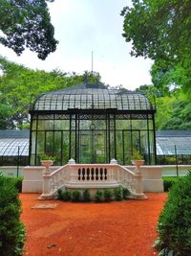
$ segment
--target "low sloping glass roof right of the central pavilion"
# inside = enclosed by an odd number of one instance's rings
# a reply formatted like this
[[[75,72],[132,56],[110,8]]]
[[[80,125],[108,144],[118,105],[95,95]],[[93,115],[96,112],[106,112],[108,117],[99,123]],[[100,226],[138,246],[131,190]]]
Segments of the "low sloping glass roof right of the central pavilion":
[[[191,154],[191,131],[160,130],[156,134],[157,155]]]

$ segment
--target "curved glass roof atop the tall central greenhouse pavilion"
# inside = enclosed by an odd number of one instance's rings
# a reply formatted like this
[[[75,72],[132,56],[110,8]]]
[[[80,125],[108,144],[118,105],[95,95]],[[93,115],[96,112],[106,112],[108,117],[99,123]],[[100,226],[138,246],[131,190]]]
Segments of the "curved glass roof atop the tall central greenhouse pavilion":
[[[144,94],[106,88],[102,83],[81,83],[75,87],[42,94],[32,110],[108,109],[151,110]]]

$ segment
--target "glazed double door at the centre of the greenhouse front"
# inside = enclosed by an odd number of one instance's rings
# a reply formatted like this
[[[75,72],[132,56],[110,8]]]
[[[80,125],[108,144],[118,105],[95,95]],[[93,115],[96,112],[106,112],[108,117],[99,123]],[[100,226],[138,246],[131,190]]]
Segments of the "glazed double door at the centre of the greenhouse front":
[[[105,130],[79,132],[79,163],[106,163]]]

